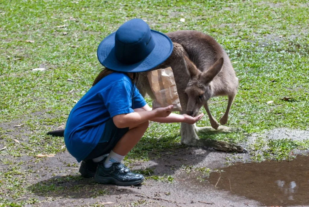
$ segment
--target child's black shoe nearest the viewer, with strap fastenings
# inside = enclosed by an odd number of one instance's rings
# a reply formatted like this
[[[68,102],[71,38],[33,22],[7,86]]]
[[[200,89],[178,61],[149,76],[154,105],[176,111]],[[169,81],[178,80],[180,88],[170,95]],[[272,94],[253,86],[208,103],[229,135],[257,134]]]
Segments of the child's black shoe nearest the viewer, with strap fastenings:
[[[105,158],[106,159],[106,158]],[[116,185],[138,185],[144,181],[141,174],[132,173],[129,168],[122,163],[113,163],[112,167],[105,168],[104,160],[99,162],[95,172],[95,182]]]

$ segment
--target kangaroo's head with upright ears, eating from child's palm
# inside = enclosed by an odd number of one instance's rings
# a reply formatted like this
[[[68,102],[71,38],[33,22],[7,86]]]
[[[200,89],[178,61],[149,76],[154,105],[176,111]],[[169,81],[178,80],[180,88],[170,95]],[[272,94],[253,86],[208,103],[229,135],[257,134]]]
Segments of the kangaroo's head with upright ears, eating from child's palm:
[[[197,116],[201,107],[212,97],[212,85],[210,84],[214,77],[218,75],[223,65],[221,57],[208,70],[201,72],[187,57],[185,57],[190,81],[186,87],[185,93],[188,95],[186,114]]]

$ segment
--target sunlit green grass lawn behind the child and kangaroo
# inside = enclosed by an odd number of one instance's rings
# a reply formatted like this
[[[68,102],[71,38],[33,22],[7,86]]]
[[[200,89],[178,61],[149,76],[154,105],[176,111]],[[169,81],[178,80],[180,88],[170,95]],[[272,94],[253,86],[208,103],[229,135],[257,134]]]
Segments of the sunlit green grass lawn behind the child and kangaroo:
[[[96,57],[100,41],[132,18],[142,18],[161,32],[205,32],[228,53],[239,78],[228,125],[247,133],[203,137],[241,144],[248,134],[258,133],[259,138],[249,149],[256,161],[286,159],[291,150],[308,149],[308,140],[268,141],[263,135],[265,130],[275,128],[308,127],[307,1],[76,2],[0,1],[0,149],[7,147],[0,152],[6,156],[0,158],[2,165],[11,169],[9,158],[66,150],[62,138],[51,138],[45,133],[51,127],[65,125],[75,100],[85,94],[102,69]],[[185,18],[185,22],[180,22],[180,18]],[[65,26],[57,27],[60,25]],[[43,64],[48,70],[32,71]],[[284,97],[297,101],[281,100]],[[267,104],[271,100],[273,103]],[[226,104],[226,98],[212,99],[211,112],[217,120]],[[11,121],[13,125],[24,125],[6,129],[4,126]],[[205,117],[197,125],[210,123]],[[159,157],[162,150],[181,147],[179,129],[179,124],[151,125],[125,162],[147,161],[150,154]],[[14,138],[20,144],[7,134],[18,130]],[[35,162],[41,159],[44,158]],[[16,180],[16,176],[26,176],[19,175],[24,171],[16,167],[1,172],[0,206],[26,203],[7,200],[29,192],[26,182]]]

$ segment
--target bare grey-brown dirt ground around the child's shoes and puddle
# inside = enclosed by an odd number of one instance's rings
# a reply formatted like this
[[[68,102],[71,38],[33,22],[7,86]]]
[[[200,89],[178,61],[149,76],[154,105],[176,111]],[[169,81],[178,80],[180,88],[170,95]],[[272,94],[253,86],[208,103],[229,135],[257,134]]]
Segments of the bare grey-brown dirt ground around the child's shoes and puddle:
[[[2,124],[1,127],[9,129],[13,125],[15,123],[6,126]],[[19,131],[27,132],[24,129],[11,129],[7,133],[11,137],[21,133]],[[265,134],[271,139],[289,137],[302,140],[308,137],[308,133],[306,130],[276,129]],[[250,135],[246,145],[255,142],[256,137],[255,134]],[[170,175],[173,181],[148,179],[140,186],[130,187],[103,185],[94,183],[93,179],[82,179],[78,173],[79,163],[67,151],[44,158],[4,155],[1,160],[8,161],[0,165],[1,172],[16,170],[18,166],[19,173],[12,176],[25,180],[23,187],[26,193],[18,200],[37,200],[26,206],[265,206],[259,201],[220,190],[209,183],[200,171],[185,168],[194,166],[218,169],[227,167],[229,160],[248,162],[249,154],[230,154],[193,147],[160,152],[159,158],[131,163],[129,167],[136,171],[152,169],[152,175]],[[7,199],[12,200],[9,197]]]

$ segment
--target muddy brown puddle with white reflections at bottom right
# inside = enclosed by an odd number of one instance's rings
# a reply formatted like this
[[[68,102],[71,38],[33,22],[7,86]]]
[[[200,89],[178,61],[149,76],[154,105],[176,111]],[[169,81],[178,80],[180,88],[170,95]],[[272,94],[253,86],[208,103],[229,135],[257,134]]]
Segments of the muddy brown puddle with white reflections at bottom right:
[[[235,163],[213,172],[204,182],[217,189],[245,196],[262,205],[309,205],[309,157],[298,155],[292,161]],[[208,182],[209,183],[208,183]]]

